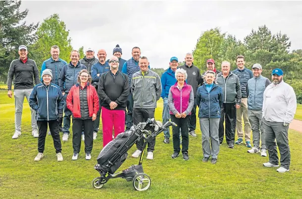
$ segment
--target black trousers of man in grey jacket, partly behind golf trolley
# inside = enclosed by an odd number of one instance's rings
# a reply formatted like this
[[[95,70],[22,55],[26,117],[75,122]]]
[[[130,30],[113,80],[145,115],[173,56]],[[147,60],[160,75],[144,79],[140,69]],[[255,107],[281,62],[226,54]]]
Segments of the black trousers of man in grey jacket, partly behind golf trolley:
[[[155,109],[138,109],[133,108],[132,115],[133,115],[133,124],[138,125],[140,122],[147,122],[148,118],[154,118]],[[136,142],[136,147],[140,151],[143,151],[144,146],[144,138],[142,137],[139,141]],[[155,146],[155,137],[151,138],[148,141],[148,152],[152,152]]]

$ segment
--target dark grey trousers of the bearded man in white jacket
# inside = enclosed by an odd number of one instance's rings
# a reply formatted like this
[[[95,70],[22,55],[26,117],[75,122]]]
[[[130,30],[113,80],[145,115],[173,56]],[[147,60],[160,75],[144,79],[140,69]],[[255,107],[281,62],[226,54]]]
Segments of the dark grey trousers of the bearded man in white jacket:
[[[284,127],[282,122],[269,122],[262,120],[265,132],[265,144],[268,151],[269,162],[279,164],[277,145],[280,152],[281,166],[289,169],[291,164],[291,151],[288,143],[288,126]],[[276,142],[277,145],[276,145]]]

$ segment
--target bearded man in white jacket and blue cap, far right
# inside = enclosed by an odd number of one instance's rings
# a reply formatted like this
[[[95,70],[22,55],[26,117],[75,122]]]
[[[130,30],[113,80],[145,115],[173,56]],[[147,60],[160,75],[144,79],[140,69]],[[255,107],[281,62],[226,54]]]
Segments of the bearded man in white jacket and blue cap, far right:
[[[281,167],[277,171],[285,173],[290,170],[291,152],[288,128],[296,113],[297,100],[293,87],[283,81],[281,69],[273,69],[272,81],[263,94],[262,122],[269,154],[269,161],[263,163],[263,166],[279,167],[278,145]]]

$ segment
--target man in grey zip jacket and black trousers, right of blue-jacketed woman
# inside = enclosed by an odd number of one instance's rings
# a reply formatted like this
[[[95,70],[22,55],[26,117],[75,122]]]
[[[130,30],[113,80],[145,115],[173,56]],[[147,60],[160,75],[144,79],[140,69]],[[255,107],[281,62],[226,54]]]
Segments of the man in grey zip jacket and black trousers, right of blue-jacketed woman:
[[[229,148],[234,148],[236,129],[236,109],[240,108],[241,88],[239,78],[230,71],[231,64],[227,61],[221,63],[221,72],[216,77],[216,83],[222,88],[223,103],[220,107],[221,118],[219,122],[219,143],[224,136],[223,123],[225,120],[225,138]]]

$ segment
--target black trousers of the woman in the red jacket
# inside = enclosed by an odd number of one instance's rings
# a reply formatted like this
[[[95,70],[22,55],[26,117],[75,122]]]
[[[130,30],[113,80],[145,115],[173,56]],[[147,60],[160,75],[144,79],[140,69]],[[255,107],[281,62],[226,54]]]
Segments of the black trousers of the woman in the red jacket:
[[[85,135],[85,153],[91,153],[93,147],[94,121],[92,119],[81,120],[74,118],[72,120],[72,147],[73,153],[79,153],[81,149],[81,134],[84,129]]]

